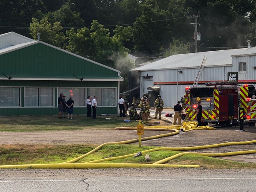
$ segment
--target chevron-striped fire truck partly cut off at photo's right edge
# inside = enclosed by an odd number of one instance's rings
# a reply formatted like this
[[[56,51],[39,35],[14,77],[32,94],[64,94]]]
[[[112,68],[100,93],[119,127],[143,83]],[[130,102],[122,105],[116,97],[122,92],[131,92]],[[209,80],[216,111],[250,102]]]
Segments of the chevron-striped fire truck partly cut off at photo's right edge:
[[[253,85],[239,85],[239,102],[240,106],[244,108],[245,121],[249,123],[256,122],[256,90]]]

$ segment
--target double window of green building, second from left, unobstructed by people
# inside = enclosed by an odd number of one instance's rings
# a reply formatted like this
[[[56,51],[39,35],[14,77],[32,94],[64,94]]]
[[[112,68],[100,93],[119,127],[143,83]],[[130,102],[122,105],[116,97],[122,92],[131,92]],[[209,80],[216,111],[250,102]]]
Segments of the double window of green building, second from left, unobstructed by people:
[[[50,107],[53,106],[53,88],[25,88],[25,107]]]

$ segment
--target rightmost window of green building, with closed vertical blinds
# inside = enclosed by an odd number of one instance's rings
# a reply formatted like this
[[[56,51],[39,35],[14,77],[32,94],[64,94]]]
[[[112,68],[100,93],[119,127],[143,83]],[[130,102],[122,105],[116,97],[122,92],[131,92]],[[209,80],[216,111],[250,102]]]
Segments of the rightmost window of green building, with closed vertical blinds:
[[[97,96],[98,106],[116,106],[116,88],[90,88],[90,96]]]

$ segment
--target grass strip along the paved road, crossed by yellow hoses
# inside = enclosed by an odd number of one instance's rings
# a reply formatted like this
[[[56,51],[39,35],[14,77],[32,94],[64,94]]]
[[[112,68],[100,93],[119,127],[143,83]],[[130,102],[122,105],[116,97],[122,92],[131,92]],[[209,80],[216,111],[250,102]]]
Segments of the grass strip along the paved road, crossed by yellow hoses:
[[[79,157],[92,149],[94,145],[0,145],[0,165],[62,163]],[[79,160],[77,163],[89,162],[108,157],[117,157],[145,151],[155,146],[138,145],[105,145],[93,154]],[[140,157],[126,157],[124,159],[104,161],[102,163],[154,163],[166,157],[180,153],[179,151],[152,151],[148,152],[151,161],[145,162],[145,154]],[[186,154],[167,162],[167,164],[199,165],[205,169],[256,169],[255,163],[240,163],[221,160],[213,157],[204,157],[195,154]]]

